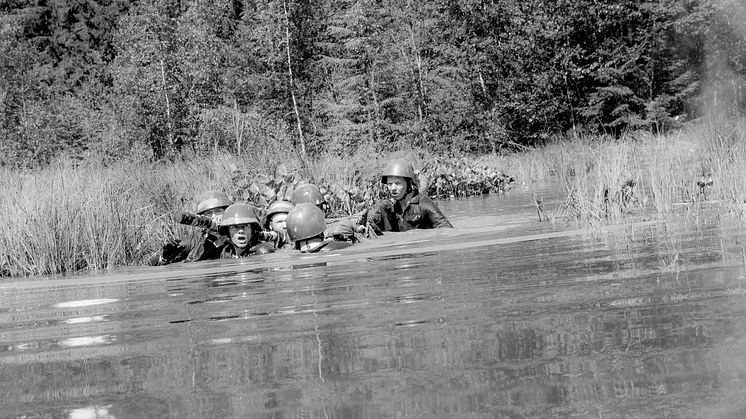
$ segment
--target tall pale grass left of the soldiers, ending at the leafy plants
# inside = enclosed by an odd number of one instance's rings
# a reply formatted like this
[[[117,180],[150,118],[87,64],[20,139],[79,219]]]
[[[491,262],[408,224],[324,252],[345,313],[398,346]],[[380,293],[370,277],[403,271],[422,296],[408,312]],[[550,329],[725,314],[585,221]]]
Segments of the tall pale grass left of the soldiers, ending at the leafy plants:
[[[185,227],[170,219],[193,197],[225,189],[235,162],[177,165],[58,162],[0,171],[0,276],[48,275],[142,263]]]

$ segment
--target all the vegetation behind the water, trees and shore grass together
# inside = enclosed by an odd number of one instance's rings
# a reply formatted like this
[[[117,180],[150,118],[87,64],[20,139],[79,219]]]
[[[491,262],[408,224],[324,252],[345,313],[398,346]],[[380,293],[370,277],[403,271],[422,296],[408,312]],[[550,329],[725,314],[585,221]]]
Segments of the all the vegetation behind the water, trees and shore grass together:
[[[261,207],[312,181],[354,213],[395,154],[438,198],[558,176],[555,221],[740,216],[744,22],[733,0],[3,2],[0,276],[139,264],[206,189]]]

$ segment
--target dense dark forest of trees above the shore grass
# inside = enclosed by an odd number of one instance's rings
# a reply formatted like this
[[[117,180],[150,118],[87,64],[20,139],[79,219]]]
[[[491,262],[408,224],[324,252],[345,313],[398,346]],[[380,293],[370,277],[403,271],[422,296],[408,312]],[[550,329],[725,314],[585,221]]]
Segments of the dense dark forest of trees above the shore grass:
[[[491,152],[744,103],[742,0],[6,0],[0,163]],[[733,105],[736,105],[735,107]]]

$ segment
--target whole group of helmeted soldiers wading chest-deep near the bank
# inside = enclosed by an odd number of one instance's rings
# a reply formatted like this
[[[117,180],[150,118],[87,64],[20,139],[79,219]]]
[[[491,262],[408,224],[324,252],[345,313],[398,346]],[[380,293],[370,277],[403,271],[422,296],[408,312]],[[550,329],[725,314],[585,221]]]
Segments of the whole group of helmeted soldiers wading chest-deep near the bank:
[[[197,198],[197,216],[177,215],[177,221],[201,228],[164,245],[150,264],[240,258],[278,250],[315,253],[342,249],[386,231],[453,227],[435,202],[420,193],[409,161],[389,162],[381,183],[390,198],[377,202],[364,216],[329,224],[326,202],[312,184],[298,186],[290,202],[273,202],[263,223],[252,205],[233,203],[223,192],[205,192]]]

